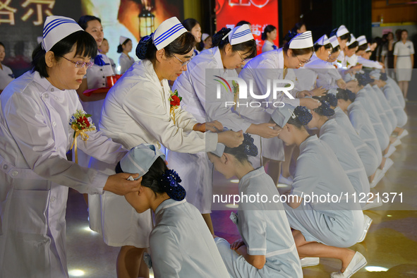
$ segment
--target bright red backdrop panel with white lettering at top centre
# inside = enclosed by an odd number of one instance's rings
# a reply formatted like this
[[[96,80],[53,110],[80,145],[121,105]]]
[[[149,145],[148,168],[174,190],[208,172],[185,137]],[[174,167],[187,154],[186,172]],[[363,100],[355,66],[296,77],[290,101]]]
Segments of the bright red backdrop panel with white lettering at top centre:
[[[234,28],[236,23],[246,20],[250,23],[253,37],[261,53],[263,41],[260,39],[267,25],[278,26],[278,0],[216,0],[217,31]],[[279,34],[274,44],[278,46]]]

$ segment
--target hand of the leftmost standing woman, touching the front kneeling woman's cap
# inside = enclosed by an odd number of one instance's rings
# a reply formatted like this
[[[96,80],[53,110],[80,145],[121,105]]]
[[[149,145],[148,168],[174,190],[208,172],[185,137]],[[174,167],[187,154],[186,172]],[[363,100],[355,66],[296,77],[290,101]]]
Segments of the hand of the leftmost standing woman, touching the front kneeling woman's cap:
[[[139,191],[142,177],[137,181],[128,181],[128,177],[138,178],[139,174],[119,173],[109,176],[103,190],[117,195],[126,195],[127,193]]]

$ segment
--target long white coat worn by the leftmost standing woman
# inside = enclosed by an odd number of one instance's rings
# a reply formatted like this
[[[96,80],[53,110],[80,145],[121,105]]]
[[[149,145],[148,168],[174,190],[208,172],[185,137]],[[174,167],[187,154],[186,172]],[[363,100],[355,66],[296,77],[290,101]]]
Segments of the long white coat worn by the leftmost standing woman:
[[[102,194],[108,177],[66,158],[74,133],[69,121],[82,110],[78,95],[35,71],[14,80],[0,99],[0,277],[68,277],[68,187]],[[116,163],[126,153],[99,131],[87,135],[78,148],[88,155]]]

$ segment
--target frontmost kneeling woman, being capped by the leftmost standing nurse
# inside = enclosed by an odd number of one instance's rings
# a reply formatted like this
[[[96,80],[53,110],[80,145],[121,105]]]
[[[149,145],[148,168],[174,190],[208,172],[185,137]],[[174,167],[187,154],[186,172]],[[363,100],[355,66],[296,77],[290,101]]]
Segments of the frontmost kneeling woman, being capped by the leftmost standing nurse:
[[[229,277],[203,217],[187,203],[181,178],[167,168],[164,159],[155,145],[141,144],[116,167],[116,171],[142,176],[139,192],[126,194],[128,203],[138,213],[155,212],[147,265],[156,278]]]

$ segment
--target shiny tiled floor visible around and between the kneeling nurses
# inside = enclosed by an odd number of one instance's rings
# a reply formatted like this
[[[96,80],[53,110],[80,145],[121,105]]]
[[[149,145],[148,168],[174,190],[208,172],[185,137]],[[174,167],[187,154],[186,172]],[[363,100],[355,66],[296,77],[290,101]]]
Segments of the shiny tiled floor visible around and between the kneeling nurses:
[[[357,278],[417,277],[417,102],[407,103],[410,135],[391,156],[394,165],[371,191],[403,193],[394,203],[366,211],[373,219],[363,243],[352,246],[368,260],[367,267],[354,275]],[[237,190],[236,183],[217,183],[227,193]],[[238,238],[236,226],[229,220],[230,208],[212,213],[214,230],[229,241]],[[119,248],[106,246],[102,238],[88,229],[87,206],[83,196],[70,191],[67,209],[67,259],[71,277],[116,277],[115,262]],[[304,277],[330,277],[339,270],[340,262],[320,260],[320,265],[303,269]]]

